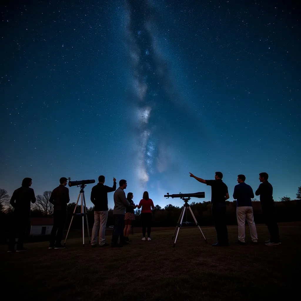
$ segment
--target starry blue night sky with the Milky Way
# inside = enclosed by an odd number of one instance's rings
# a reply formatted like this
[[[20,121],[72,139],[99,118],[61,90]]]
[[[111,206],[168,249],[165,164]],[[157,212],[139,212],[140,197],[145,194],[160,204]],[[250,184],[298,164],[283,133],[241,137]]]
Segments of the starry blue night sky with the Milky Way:
[[[138,203],[237,175],[295,199],[300,6],[294,1],[6,1],[1,5],[0,188],[36,195],[126,179]],[[94,184],[85,188],[87,206]],[[117,185],[118,186],[118,185]],[[79,188],[71,187],[70,201]],[[108,195],[113,207],[113,193]]]

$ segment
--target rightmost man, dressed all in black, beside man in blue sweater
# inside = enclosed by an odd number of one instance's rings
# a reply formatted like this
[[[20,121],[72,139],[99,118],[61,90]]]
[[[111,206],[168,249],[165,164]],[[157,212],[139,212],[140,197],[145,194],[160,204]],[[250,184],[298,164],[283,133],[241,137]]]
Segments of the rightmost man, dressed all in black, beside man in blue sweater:
[[[260,195],[260,205],[265,224],[270,232],[270,239],[266,240],[267,246],[281,244],[279,240],[279,228],[275,216],[275,203],[273,200],[273,186],[268,182],[268,174],[261,172],[259,174],[261,184],[255,191],[255,195]]]

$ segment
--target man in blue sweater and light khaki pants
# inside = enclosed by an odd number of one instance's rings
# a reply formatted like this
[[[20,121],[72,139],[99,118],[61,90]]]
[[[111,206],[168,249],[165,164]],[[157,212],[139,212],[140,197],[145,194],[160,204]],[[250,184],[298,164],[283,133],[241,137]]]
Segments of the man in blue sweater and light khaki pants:
[[[244,175],[237,176],[238,185],[234,187],[233,198],[236,200],[236,216],[238,224],[238,244],[246,244],[245,221],[247,219],[250,228],[251,239],[254,244],[257,243],[257,231],[254,223],[252,200],[254,197],[253,189],[244,181]]]

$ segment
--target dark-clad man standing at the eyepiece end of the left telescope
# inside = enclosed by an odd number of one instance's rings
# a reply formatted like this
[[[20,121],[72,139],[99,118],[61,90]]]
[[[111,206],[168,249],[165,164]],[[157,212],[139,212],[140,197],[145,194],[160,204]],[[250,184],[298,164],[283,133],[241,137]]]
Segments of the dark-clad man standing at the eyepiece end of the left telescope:
[[[66,185],[67,178],[60,178],[60,185],[54,188],[49,199],[49,202],[53,204],[53,227],[48,249],[64,249],[61,240],[67,219],[67,203],[70,201],[69,189]]]

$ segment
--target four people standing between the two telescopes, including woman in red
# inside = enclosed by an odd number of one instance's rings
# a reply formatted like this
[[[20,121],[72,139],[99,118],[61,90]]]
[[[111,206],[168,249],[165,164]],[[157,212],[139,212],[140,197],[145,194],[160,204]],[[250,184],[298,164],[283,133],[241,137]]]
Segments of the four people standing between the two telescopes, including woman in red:
[[[108,192],[114,192],[114,229],[111,239],[111,247],[123,247],[129,244],[129,233],[132,223],[135,220],[134,209],[141,209],[141,222],[142,222],[142,240],[146,240],[145,234],[147,229],[147,240],[151,240],[151,208],[154,208],[152,199],[149,198],[148,192],[144,191],[143,198],[138,205],[133,202],[133,193],[126,194],[124,190],[127,187],[126,180],[119,181],[119,188],[116,189],[116,178],[113,178],[113,187],[104,185],[105,177],[100,175],[98,177],[98,184],[92,187],[91,202],[94,204],[94,225],[92,229],[92,248],[106,247],[109,244],[105,241],[105,230],[108,217]],[[99,241],[97,244],[97,232],[99,230]],[[119,241],[119,242],[118,242]]]

